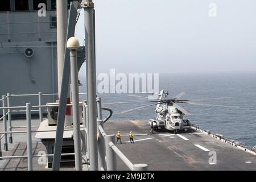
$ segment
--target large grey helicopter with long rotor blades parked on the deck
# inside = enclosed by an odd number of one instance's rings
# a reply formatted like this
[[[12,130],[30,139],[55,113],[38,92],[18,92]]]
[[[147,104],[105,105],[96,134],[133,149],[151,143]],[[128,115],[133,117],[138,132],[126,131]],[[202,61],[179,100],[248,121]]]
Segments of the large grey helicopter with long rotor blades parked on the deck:
[[[239,108],[237,106],[224,106],[224,105],[213,105],[213,104],[204,104],[204,103],[196,103],[193,100],[179,100],[185,92],[181,92],[174,98],[167,98],[168,92],[164,92],[161,90],[160,93],[146,93],[151,94],[152,96],[158,96],[157,100],[150,100],[145,102],[151,102],[150,105],[135,107],[133,109],[122,111],[121,114],[130,113],[131,111],[144,109],[145,107],[150,107],[156,105],[155,108],[155,119],[150,119],[148,122],[149,125],[153,125],[154,128],[157,129],[164,129],[168,131],[174,131],[176,134],[180,130],[185,130],[191,127],[191,123],[189,119],[185,119],[185,115],[191,115],[187,110],[183,107],[177,105],[178,103],[190,104],[190,105],[203,105],[203,106],[218,106],[218,107],[229,107],[229,108]],[[138,95],[129,95],[133,97],[140,97],[140,98],[149,98],[144,96]],[[109,104],[129,104],[134,102],[115,102]],[[154,104],[153,104],[154,103]]]

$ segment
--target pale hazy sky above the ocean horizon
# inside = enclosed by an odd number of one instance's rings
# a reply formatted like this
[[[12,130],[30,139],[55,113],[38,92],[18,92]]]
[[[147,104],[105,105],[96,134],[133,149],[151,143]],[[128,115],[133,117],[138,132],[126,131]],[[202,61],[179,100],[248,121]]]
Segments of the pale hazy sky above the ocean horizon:
[[[98,73],[256,71],[255,0],[94,3]],[[210,3],[217,17],[209,16]],[[83,16],[76,27],[81,43]]]

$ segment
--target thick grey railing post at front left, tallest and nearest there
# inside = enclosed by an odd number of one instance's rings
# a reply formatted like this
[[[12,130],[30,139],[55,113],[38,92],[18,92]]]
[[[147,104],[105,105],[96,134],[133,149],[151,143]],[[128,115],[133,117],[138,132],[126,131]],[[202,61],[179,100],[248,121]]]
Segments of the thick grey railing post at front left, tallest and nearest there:
[[[26,104],[27,118],[27,169],[32,171],[32,136],[31,136],[31,104]]]

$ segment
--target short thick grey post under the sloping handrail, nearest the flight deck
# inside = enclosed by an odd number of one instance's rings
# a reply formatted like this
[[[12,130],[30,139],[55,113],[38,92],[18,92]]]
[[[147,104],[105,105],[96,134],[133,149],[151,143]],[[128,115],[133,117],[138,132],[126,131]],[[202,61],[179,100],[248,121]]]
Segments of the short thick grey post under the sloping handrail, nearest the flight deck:
[[[106,169],[108,171],[117,170],[117,156],[112,148],[109,146],[109,142],[115,143],[115,135],[106,135]]]

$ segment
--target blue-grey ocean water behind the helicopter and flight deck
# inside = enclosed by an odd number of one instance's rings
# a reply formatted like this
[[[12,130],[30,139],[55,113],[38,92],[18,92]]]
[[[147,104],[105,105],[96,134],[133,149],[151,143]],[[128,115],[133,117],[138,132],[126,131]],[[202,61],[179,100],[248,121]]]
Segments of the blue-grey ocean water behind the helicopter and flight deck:
[[[85,76],[80,75],[84,86],[80,92],[86,93]],[[256,73],[170,73],[159,75],[159,90],[169,92],[172,98],[180,92],[186,94],[180,99],[200,100],[197,102],[227,106],[239,106],[239,109],[180,104],[192,115],[187,116],[191,122],[212,133],[224,135],[245,143],[251,148],[256,145]],[[123,101],[146,101],[129,94],[99,94],[102,103]],[[139,94],[146,96],[145,94]],[[81,96],[81,99],[86,99]],[[205,101],[201,101],[204,99]],[[104,105],[113,109],[112,121],[129,121],[131,119],[147,120],[155,117],[155,106],[146,107],[131,113],[121,111],[147,104],[132,103]],[[104,113],[108,114],[107,112]]]

